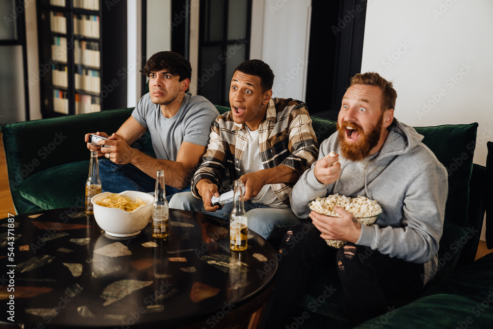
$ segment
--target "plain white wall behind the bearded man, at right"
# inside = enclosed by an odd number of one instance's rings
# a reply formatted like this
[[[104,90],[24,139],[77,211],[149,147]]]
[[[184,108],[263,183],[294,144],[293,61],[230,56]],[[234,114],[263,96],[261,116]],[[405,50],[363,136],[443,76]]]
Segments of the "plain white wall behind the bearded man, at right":
[[[473,160],[483,166],[493,141],[492,13],[491,0],[369,0],[361,64],[393,81],[402,122],[479,122]]]

